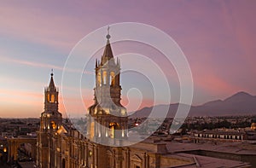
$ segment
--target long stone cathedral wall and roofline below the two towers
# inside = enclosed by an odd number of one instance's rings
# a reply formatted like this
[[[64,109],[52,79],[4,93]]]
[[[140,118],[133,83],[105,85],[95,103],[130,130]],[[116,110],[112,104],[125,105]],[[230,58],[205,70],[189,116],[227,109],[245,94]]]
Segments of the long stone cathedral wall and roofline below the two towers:
[[[78,130],[54,134],[49,154],[39,167],[52,168],[160,168],[193,165],[193,159],[168,155],[165,143],[140,142],[130,147],[109,147],[90,142]]]

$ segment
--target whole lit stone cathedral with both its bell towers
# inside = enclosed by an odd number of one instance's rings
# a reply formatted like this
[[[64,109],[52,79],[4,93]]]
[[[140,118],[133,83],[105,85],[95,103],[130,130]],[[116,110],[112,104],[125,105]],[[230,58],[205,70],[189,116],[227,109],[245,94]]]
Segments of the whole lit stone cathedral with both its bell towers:
[[[172,154],[163,141],[145,140],[123,146],[128,116],[120,103],[120,61],[111,49],[110,35],[100,61],[96,60],[94,104],[89,107],[86,135],[76,130],[58,111],[58,88],[54,74],[44,89],[37,139],[36,165],[40,168],[160,168],[194,167],[189,154]],[[85,113],[85,112],[84,112]]]

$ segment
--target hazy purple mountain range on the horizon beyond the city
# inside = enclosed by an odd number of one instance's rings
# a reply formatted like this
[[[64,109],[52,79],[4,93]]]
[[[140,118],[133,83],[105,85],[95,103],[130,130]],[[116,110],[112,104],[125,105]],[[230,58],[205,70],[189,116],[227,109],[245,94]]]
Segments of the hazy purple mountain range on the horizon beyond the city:
[[[169,107],[169,110],[168,110]],[[177,112],[178,103],[170,105],[155,105],[154,107],[144,107],[133,113],[131,117],[169,117],[173,118]],[[188,105],[181,104],[183,109]],[[167,115],[165,112],[167,112]],[[183,112],[183,110],[182,110]],[[226,99],[209,101],[201,106],[191,106],[189,116],[221,116],[221,115],[240,115],[240,114],[256,114],[256,96],[252,96],[246,92],[238,92]],[[184,114],[185,115],[185,114]]]

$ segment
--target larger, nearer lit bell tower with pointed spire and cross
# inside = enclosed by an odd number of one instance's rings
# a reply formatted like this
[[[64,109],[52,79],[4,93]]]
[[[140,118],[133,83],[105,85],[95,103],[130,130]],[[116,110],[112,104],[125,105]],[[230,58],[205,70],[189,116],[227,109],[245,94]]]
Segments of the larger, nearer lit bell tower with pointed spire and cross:
[[[87,127],[87,136],[96,142],[125,139],[128,128],[126,109],[120,103],[122,90],[119,83],[120,61],[113,57],[109,27],[106,38],[107,44],[101,61],[96,60],[95,102],[88,108],[90,122]]]

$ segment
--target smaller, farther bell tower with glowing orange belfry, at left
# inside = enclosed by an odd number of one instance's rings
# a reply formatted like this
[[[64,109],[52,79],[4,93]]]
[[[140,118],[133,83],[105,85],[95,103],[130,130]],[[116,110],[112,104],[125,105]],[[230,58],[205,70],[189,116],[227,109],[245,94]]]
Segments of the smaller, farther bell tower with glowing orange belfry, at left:
[[[58,88],[55,87],[54,74],[50,73],[49,86],[44,88],[44,112],[40,117],[40,129],[38,130],[37,165],[49,168],[52,164],[54,152],[52,149],[52,136],[58,130],[62,122],[62,114],[58,112]]]

